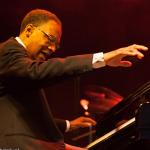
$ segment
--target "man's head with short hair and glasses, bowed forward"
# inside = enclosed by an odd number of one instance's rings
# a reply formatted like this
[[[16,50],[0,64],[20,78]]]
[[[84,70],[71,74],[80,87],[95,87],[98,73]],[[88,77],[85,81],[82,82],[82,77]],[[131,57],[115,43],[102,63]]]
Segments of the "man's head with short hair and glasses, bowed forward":
[[[61,33],[61,21],[55,14],[35,9],[24,17],[19,37],[32,59],[46,60],[58,48]]]

